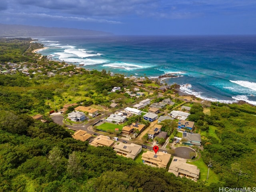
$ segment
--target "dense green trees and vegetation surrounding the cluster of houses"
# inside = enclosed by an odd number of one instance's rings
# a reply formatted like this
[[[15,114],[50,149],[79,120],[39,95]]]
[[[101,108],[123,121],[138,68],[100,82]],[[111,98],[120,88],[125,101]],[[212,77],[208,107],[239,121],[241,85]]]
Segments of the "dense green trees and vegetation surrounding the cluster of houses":
[[[40,68],[34,76],[17,71],[0,74],[0,191],[219,191],[219,187],[256,186],[256,107],[249,104],[192,104],[189,120],[202,136],[201,156],[219,176],[219,182],[176,178],[165,169],[116,156],[112,148],[88,146],[52,122],[50,110],[64,104],[94,104],[108,108],[134,102],[128,94],[109,93],[114,86],[132,88],[123,75],[76,69],[64,63],[38,59],[32,53],[42,45],[31,39],[0,41],[1,65],[17,62]],[[8,46],[10,45],[10,46]],[[16,46],[17,45],[17,46]],[[32,48],[33,46],[33,48]],[[18,59],[18,61],[17,61]],[[56,70],[55,76],[47,72]],[[74,75],[63,75],[73,71]],[[165,96],[168,96],[167,94]],[[208,108],[209,113],[204,109]],[[46,123],[31,115],[44,114]]]

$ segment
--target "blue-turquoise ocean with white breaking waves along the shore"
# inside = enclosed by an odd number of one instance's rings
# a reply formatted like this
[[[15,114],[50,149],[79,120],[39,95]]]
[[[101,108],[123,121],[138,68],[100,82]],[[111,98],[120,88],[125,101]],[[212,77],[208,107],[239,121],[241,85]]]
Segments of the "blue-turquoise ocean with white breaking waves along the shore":
[[[163,78],[199,98],[256,105],[256,36],[37,37],[53,60],[125,76]]]

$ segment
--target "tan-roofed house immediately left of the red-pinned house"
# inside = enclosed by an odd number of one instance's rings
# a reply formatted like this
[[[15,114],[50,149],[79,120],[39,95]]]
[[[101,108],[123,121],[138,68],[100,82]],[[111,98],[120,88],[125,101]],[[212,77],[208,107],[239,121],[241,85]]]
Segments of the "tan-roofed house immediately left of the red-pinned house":
[[[126,158],[132,158],[134,160],[136,156],[141,152],[142,146],[134,143],[119,143],[113,146],[116,154],[122,155]]]

